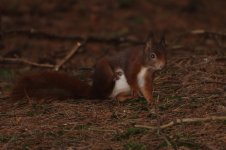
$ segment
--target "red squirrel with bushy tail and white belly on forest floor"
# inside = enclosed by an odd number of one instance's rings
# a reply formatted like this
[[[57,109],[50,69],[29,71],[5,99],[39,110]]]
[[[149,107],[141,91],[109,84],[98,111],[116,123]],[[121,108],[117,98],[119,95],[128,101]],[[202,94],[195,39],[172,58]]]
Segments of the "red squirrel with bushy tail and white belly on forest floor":
[[[162,37],[156,42],[151,34],[146,44],[97,61],[92,85],[64,73],[34,73],[18,80],[11,97],[13,100],[115,98],[124,101],[141,92],[147,102],[152,103],[154,72],[165,65],[165,39]]]

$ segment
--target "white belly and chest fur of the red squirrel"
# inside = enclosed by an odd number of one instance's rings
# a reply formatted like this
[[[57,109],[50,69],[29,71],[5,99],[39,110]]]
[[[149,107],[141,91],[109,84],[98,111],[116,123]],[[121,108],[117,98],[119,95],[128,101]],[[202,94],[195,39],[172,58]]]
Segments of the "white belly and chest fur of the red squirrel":
[[[145,76],[148,68],[143,67],[137,75],[137,82],[139,88],[142,88],[145,85]],[[117,69],[116,72],[121,72],[122,75],[115,82],[115,87],[112,91],[111,97],[117,96],[119,93],[126,92],[129,93],[131,91],[130,85],[127,82],[125,73],[122,69]]]

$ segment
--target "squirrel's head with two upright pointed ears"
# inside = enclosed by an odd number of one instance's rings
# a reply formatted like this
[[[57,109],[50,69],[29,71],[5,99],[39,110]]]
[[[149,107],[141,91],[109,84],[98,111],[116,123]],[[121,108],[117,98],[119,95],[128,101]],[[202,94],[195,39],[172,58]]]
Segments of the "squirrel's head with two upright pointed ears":
[[[144,65],[153,70],[161,70],[166,65],[165,47],[164,35],[156,42],[151,33],[144,48]]]

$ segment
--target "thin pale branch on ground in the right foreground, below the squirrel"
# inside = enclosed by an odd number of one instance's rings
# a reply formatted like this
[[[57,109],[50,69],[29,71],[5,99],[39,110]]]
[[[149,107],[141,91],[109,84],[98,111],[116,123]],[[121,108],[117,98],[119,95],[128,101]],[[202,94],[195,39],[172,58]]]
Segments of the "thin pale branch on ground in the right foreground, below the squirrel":
[[[204,121],[214,121],[214,120],[226,120],[226,116],[210,116],[206,118],[183,118],[183,119],[176,119],[174,121],[171,121],[167,124],[163,124],[160,126],[161,129],[165,129],[177,124],[182,123],[192,123],[192,122],[204,122]],[[147,128],[147,129],[153,129],[156,130],[158,127],[156,126],[148,126],[148,125],[135,125],[137,128]]]

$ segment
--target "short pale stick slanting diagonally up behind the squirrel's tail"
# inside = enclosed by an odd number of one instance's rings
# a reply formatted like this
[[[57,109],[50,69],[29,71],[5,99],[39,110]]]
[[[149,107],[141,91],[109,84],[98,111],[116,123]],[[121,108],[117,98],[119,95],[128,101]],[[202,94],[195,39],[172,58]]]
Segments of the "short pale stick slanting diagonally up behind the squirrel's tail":
[[[82,44],[80,42],[77,42],[76,45],[71,49],[71,51],[58,64],[56,64],[54,69],[56,71],[58,71],[60,69],[60,67],[63,64],[65,64],[65,62],[67,62],[78,51],[78,49],[81,47],[81,45]]]

